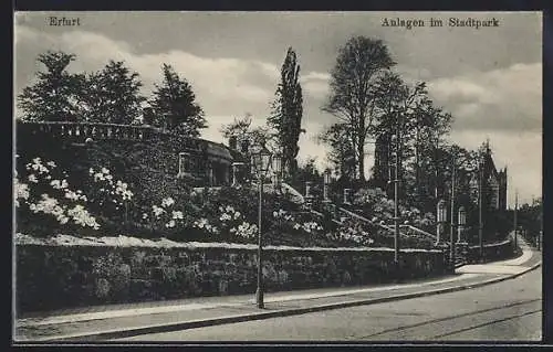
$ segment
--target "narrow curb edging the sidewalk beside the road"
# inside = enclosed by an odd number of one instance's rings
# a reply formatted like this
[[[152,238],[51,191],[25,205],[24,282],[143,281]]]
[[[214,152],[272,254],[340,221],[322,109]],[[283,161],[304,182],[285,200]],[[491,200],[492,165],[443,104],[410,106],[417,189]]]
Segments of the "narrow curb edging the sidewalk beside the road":
[[[228,316],[228,317],[220,317],[220,318],[198,319],[198,320],[192,320],[192,321],[173,322],[173,323],[156,324],[156,326],[148,326],[148,327],[131,328],[131,329],[125,329],[125,330],[117,329],[117,330],[107,330],[107,331],[92,332],[92,333],[49,337],[49,338],[36,339],[36,340],[27,340],[27,341],[23,340],[23,341],[19,341],[19,342],[22,342],[22,343],[34,342],[34,341],[44,341],[44,342],[45,341],[56,341],[56,342],[72,342],[72,341],[76,342],[76,341],[80,341],[80,342],[83,342],[83,340],[84,341],[98,341],[98,340],[111,340],[111,339],[124,339],[124,338],[131,338],[131,337],[136,337],[136,335],[140,335],[140,334],[188,330],[188,329],[220,326],[220,324],[228,324],[228,323],[234,323],[234,322],[244,322],[244,321],[263,320],[263,319],[270,319],[270,318],[298,316],[298,314],[304,314],[304,313],[311,313],[311,312],[317,312],[317,311],[324,311],[324,310],[332,310],[332,309],[349,308],[349,307],[356,307],[356,306],[376,305],[376,303],[383,303],[383,302],[389,302],[389,301],[396,301],[396,300],[403,300],[403,299],[410,299],[410,298],[417,298],[417,297],[425,297],[425,296],[434,296],[434,295],[440,295],[440,294],[461,291],[461,290],[466,290],[466,289],[472,289],[472,288],[478,288],[478,287],[482,287],[486,285],[501,282],[501,281],[517,278],[517,277],[524,275],[529,271],[532,271],[532,270],[539,268],[541,265],[542,265],[541,262],[536,263],[533,266],[529,267],[528,269],[525,269],[521,273],[513,274],[513,275],[505,276],[505,277],[493,278],[493,279],[489,279],[486,281],[476,282],[476,284],[471,284],[471,285],[440,288],[440,289],[428,290],[428,291],[418,291],[418,292],[404,294],[404,295],[397,295],[397,296],[390,296],[390,297],[382,297],[382,298],[361,299],[361,300],[322,305],[322,306],[307,307],[307,308],[293,308],[293,309],[276,310],[276,311],[260,312],[260,313],[247,313],[247,314]]]

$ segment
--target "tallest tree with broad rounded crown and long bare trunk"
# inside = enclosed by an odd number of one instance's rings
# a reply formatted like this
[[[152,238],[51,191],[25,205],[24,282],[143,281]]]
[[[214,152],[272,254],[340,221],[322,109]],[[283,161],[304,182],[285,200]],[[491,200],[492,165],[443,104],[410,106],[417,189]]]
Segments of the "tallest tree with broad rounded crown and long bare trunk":
[[[365,180],[365,139],[374,118],[374,82],[395,65],[380,40],[349,39],[331,71],[331,94],[323,110],[337,117],[352,136],[359,180]]]

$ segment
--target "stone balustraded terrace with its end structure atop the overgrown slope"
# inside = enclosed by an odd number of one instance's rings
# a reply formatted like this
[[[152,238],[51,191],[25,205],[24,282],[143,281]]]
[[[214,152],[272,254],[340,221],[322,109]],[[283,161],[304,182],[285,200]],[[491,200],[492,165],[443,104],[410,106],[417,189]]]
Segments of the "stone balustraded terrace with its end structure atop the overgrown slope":
[[[43,139],[45,138],[45,139]],[[122,143],[165,141],[175,152],[177,163],[159,169],[186,178],[195,186],[230,185],[248,178],[248,143],[225,146],[213,141],[170,134],[159,128],[143,125],[114,125],[67,121],[17,122],[18,148],[23,143],[40,143],[40,140],[64,141],[75,148],[87,142],[121,141]]]

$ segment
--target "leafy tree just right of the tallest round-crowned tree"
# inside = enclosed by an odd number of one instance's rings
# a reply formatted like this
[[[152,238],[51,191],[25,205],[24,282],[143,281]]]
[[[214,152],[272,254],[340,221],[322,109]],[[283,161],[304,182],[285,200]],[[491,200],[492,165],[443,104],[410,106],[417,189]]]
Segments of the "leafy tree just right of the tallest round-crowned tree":
[[[449,168],[447,160],[451,160],[440,146],[449,134],[452,117],[434,106],[424,82],[409,86],[396,73],[385,72],[376,79],[374,95],[376,113],[369,131],[376,137],[377,157],[384,158],[373,169],[376,185],[386,188],[389,175],[395,174],[388,163],[395,161],[399,141],[399,199],[429,211],[445,181],[441,172]],[[388,186],[389,195],[390,192]]]

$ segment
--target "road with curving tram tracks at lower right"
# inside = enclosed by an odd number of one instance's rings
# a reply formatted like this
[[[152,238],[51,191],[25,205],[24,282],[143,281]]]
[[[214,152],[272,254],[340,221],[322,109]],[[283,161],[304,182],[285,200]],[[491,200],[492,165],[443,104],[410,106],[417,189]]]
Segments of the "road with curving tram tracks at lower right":
[[[118,341],[540,341],[542,270],[451,294]]]

